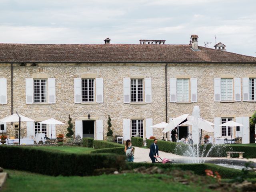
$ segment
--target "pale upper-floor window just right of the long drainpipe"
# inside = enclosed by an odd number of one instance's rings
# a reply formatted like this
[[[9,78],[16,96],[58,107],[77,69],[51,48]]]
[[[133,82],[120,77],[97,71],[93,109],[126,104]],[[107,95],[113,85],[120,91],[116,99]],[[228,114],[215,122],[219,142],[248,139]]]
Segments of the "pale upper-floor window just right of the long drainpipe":
[[[177,79],[177,102],[189,101],[189,79]]]

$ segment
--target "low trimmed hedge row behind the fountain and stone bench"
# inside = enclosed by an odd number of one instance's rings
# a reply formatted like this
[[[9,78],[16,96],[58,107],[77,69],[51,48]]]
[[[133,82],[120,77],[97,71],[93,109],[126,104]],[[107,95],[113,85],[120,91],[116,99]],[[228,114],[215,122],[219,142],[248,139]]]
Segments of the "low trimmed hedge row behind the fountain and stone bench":
[[[153,143],[152,139],[147,139],[147,148]],[[185,152],[189,149],[189,145],[158,140],[158,149],[160,151],[169,152],[177,155],[188,156]],[[209,152],[212,145],[200,145],[199,156],[204,152],[204,156]],[[196,148],[196,145],[194,145]],[[242,151],[244,152],[244,158],[256,158],[256,146],[248,146],[243,144],[231,144],[231,145],[215,145],[209,152],[208,157],[226,157],[227,151]],[[234,157],[238,157],[238,154],[234,154]]]

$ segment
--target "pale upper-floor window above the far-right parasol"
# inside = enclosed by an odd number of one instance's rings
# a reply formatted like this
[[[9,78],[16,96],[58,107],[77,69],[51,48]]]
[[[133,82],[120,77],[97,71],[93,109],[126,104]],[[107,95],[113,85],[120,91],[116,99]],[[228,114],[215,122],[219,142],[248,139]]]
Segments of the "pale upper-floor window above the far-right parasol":
[[[232,101],[233,100],[233,79],[221,78],[221,100]]]

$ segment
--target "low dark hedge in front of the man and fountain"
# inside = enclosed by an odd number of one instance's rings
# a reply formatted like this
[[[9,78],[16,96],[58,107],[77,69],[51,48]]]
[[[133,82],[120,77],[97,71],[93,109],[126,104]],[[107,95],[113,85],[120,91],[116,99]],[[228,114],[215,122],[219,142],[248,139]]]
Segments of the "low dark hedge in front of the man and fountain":
[[[209,169],[212,170],[213,172],[217,171],[222,178],[235,178],[238,176],[241,176],[242,171],[237,170],[237,169],[232,169],[232,168],[226,168],[222,166],[218,166],[215,164],[152,164],[152,163],[126,163],[126,169],[132,170],[134,168],[139,168],[139,167],[152,167],[152,166],[158,166],[163,169],[180,169],[180,170],[190,170],[193,171],[195,174],[198,175],[205,175],[205,170]],[[256,173],[249,173],[249,178],[255,178]]]

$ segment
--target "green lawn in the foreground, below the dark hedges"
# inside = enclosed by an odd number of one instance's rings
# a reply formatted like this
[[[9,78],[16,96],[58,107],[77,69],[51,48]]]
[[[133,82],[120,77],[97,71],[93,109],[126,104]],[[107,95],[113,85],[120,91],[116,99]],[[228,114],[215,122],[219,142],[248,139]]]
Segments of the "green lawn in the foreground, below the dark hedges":
[[[45,176],[30,172],[5,170],[9,173],[2,192],[212,192],[204,184],[184,185],[166,175],[120,174],[90,177]]]

